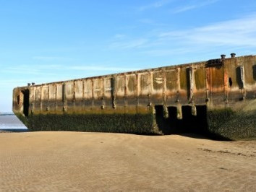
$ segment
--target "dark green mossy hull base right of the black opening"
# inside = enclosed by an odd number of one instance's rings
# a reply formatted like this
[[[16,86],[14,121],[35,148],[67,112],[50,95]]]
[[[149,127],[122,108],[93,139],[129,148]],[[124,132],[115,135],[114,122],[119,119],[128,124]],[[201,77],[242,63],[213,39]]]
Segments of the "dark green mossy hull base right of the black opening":
[[[208,111],[208,124],[211,134],[226,139],[256,138],[256,110],[210,110]]]

